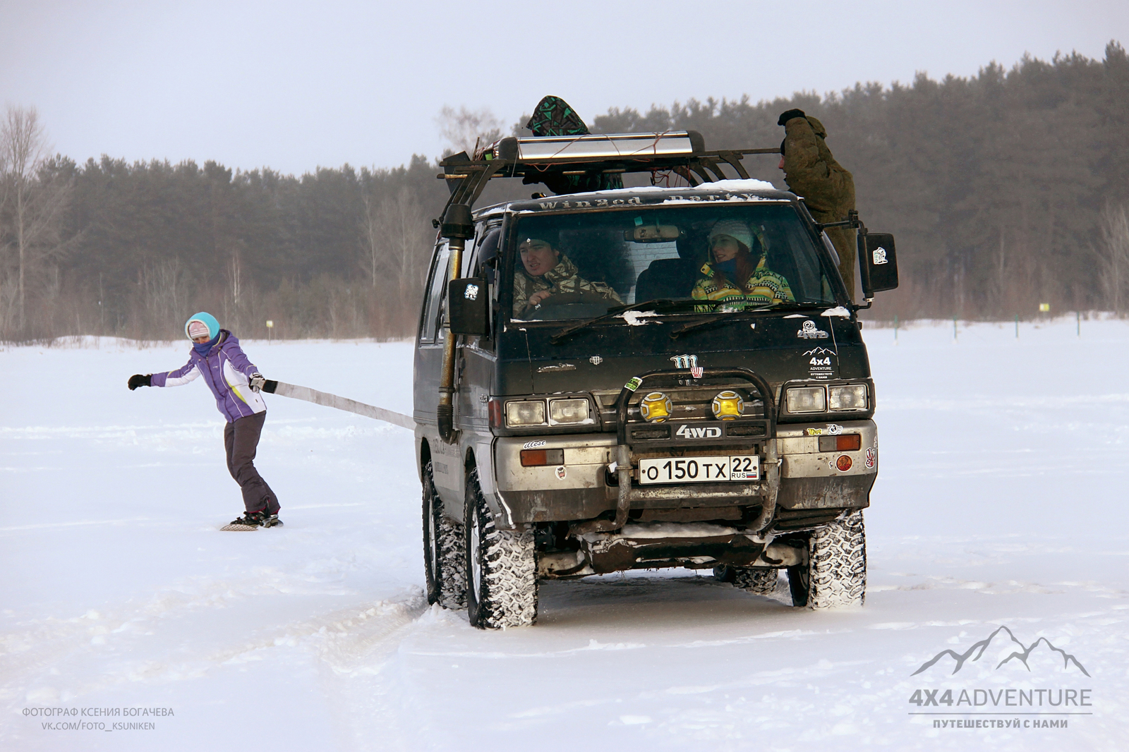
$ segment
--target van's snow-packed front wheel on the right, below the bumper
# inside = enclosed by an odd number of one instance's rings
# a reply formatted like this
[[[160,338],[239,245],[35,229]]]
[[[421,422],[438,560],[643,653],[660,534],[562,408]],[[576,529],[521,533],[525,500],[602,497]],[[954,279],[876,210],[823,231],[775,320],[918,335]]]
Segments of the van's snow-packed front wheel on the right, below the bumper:
[[[863,513],[814,531],[806,567],[788,568],[796,606],[813,610],[863,605],[866,600],[866,528]]]

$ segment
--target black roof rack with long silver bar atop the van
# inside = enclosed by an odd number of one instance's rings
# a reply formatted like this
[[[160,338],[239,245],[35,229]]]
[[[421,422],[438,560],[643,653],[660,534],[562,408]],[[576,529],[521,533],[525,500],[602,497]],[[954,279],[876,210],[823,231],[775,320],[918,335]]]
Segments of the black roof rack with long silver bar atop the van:
[[[523,177],[527,183],[542,183],[545,177],[557,176],[674,170],[694,186],[726,180],[723,164],[733,167],[739,177],[749,178],[741,160],[750,154],[780,154],[780,149],[707,151],[706,140],[698,131],[509,137],[475,150],[474,159],[465,151],[447,157],[439,163],[443,172],[437,177],[457,181],[448,182],[452,191],[447,207],[453,203],[473,207],[492,177]]]

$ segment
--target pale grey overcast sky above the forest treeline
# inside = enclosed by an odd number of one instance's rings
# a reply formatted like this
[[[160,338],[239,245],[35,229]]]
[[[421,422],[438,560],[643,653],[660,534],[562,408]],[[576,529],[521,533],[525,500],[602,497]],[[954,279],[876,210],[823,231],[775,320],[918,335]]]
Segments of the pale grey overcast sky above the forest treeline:
[[[1101,59],[1129,1],[0,0],[0,100],[79,161],[216,159],[301,173],[444,148],[444,105],[507,126],[545,94],[609,107],[753,100]]]

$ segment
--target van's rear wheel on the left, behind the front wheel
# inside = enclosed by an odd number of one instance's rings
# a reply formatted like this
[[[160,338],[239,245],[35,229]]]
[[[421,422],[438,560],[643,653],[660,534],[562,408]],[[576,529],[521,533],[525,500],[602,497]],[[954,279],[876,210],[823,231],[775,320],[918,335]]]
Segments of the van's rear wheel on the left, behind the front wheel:
[[[465,527],[443,514],[431,463],[423,467],[423,571],[427,602],[444,609],[466,606]]]

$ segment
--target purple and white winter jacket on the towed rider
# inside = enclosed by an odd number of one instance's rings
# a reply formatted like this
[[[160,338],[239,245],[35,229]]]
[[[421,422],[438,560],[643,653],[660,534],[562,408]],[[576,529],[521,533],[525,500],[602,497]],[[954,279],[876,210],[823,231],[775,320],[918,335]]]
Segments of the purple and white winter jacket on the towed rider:
[[[189,362],[176,370],[154,374],[154,386],[181,386],[203,375],[208,387],[216,395],[216,408],[224,413],[227,422],[253,416],[266,410],[266,403],[251,391],[251,375],[259,369],[252,365],[239,340],[226,329],[219,330],[219,342],[207,356],[195,350],[189,355]]]

